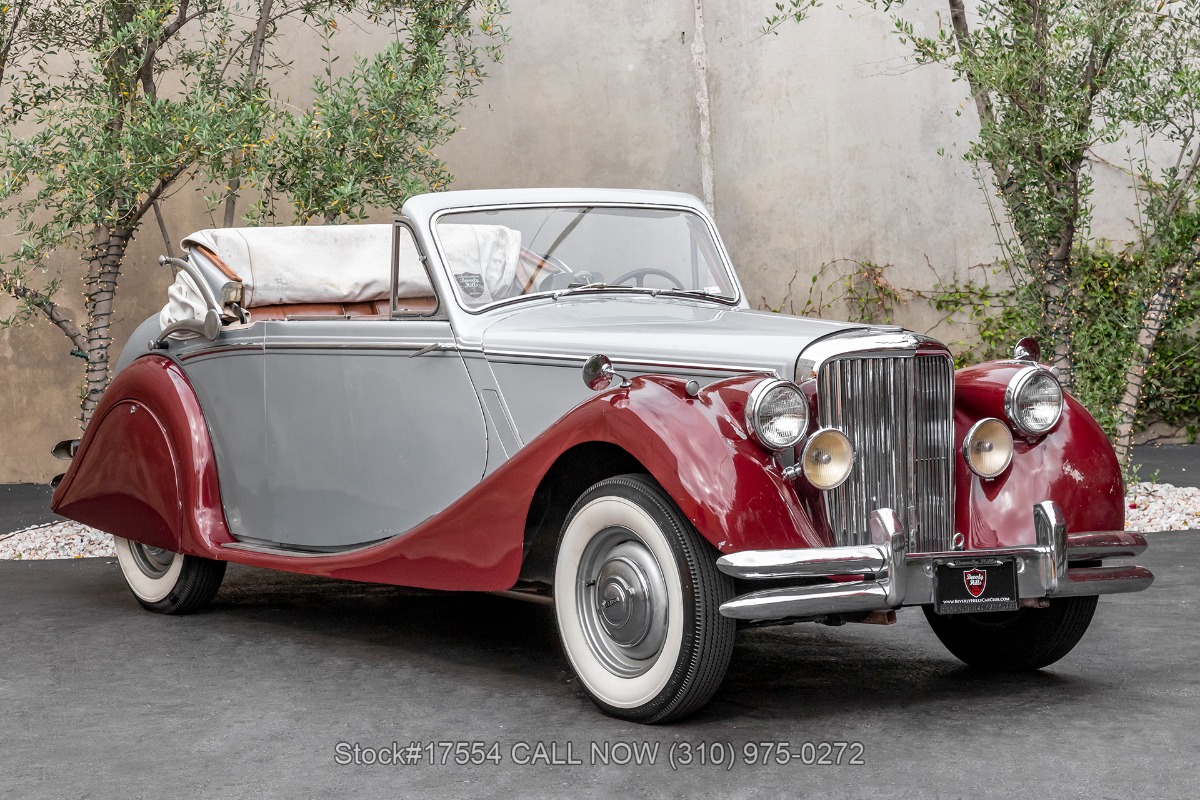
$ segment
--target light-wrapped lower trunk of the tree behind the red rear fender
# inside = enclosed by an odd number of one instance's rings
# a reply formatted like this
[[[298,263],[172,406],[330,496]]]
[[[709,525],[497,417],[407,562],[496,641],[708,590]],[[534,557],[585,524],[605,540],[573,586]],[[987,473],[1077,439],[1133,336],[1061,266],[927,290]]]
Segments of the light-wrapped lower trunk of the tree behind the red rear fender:
[[[113,300],[116,296],[116,281],[121,276],[125,252],[130,246],[133,231],[128,228],[97,228],[92,237],[92,255],[88,261],[88,373],[86,387],[80,405],[79,422],[88,427],[91,415],[100,404],[100,398],[112,380],[109,369],[109,348],[113,321]]]

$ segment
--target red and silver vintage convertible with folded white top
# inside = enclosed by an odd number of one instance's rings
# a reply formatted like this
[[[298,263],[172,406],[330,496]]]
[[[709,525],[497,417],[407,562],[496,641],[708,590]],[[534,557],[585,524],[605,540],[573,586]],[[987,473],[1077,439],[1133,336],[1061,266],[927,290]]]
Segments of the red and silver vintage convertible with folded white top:
[[[446,192],[184,247],[56,449],[54,510],[118,537],[151,610],[229,561],[552,599],[596,705],[665,722],[740,626],[919,606],[1027,670],[1153,581],[1106,563],[1146,542],[1036,342],[955,372],[911,331],[752,311],[690,196]]]

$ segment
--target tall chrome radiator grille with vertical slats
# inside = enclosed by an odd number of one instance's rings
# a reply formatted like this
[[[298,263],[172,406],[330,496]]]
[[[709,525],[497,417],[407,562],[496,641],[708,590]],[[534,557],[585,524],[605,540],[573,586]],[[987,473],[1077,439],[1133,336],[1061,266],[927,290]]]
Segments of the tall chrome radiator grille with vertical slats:
[[[826,493],[838,545],[870,541],[868,519],[893,509],[912,552],[950,549],[954,536],[954,366],[948,356],[835,357],[821,367],[822,427],[854,445],[850,477]]]

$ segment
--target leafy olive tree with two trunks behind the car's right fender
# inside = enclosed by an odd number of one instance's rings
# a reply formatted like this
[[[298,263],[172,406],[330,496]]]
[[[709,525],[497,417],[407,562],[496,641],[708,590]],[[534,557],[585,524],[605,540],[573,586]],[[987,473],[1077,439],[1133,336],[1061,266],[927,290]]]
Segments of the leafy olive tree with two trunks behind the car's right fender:
[[[979,131],[964,155],[986,175],[989,205],[1000,200],[994,221],[1004,259],[1030,289],[1021,296],[1037,302],[1031,317],[1068,389],[1076,379],[1074,295],[1087,284],[1086,259],[1075,261],[1093,209],[1091,166],[1099,145],[1130,145],[1141,253],[1128,263],[1144,270],[1134,283],[1145,296],[1144,313],[1111,342],[1112,357],[1127,360],[1124,390],[1111,403],[1126,461],[1154,343],[1200,258],[1200,5],[944,0],[928,35],[906,0],[865,2],[892,16],[917,62],[943,65],[965,84]],[[768,28],[798,22],[818,5],[781,2]],[[1165,150],[1171,155],[1163,158]]]

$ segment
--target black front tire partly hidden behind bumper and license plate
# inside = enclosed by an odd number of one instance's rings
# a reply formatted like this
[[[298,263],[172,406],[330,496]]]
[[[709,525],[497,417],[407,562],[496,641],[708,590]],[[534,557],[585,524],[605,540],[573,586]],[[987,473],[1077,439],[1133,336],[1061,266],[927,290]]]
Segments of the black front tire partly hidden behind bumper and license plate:
[[[1062,658],[1079,644],[1096,613],[1096,595],[1060,597],[1049,608],[991,614],[935,614],[925,618],[946,649],[960,661],[995,672],[1031,672]]]

